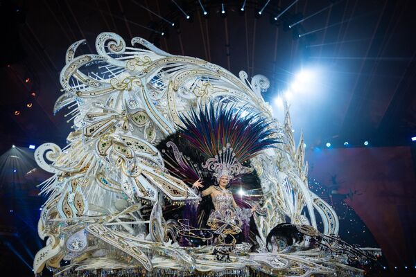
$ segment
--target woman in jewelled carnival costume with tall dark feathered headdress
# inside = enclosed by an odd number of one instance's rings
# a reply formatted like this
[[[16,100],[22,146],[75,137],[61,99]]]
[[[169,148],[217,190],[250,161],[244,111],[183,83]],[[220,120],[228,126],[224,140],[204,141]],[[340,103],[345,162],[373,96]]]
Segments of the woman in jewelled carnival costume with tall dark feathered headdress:
[[[243,164],[278,141],[270,136],[269,123],[259,114],[223,103],[210,102],[181,120],[174,137],[159,143],[163,148],[167,141],[166,146],[172,148],[162,149],[166,163],[171,165],[168,170],[192,184],[194,190],[204,188],[214,178],[215,185],[200,192],[202,197],[211,196],[214,205],[206,224],[216,235],[231,235],[232,240],[236,237],[241,242],[242,234],[248,236],[256,204],[240,207],[228,188],[239,184],[242,175],[255,175],[254,168]]]

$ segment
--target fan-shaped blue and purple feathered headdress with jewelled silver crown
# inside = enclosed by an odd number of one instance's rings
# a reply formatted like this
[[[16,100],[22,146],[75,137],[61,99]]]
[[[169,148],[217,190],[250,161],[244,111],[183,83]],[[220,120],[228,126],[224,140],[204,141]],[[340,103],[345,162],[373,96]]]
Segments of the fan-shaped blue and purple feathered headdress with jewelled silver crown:
[[[270,122],[244,107],[210,102],[180,119],[182,126],[178,126],[178,131],[205,157],[202,168],[217,180],[223,175],[232,179],[251,172],[252,168],[243,163],[279,143],[272,137]]]

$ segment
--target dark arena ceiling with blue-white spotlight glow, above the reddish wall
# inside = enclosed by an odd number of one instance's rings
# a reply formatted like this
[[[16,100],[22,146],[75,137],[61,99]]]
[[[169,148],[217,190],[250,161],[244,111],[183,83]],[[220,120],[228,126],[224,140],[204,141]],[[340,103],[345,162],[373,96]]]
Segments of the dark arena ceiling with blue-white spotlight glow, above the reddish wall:
[[[65,52],[87,39],[80,54],[94,53],[103,31],[126,42],[144,37],[166,52],[200,57],[234,74],[266,75],[271,87],[263,96],[277,115],[275,99],[286,97],[298,72],[313,71],[314,86],[291,95],[295,133],[304,129],[309,147],[327,141],[361,147],[366,140],[410,145],[416,135],[411,0],[42,0],[0,6],[2,152],[13,143],[64,145],[70,126],[64,113],[53,116],[52,110]]]

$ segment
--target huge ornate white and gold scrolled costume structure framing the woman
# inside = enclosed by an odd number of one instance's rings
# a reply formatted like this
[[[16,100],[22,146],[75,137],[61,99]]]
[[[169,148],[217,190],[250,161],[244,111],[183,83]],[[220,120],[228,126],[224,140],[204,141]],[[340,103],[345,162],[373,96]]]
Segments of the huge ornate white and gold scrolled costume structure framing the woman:
[[[42,184],[49,199],[38,231],[48,240],[35,256],[36,274],[45,265],[62,276],[79,271],[116,276],[361,274],[343,265],[342,255],[336,258],[318,248],[302,250],[308,240],[295,252],[266,249],[268,233],[285,217],[316,228],[314,211],[318,211],[323,233],[338,233],[336,213],[308,189],[304,143],[301,139],[295,147],[287,111],[284,123],[273,123],[284,149],[269,149],[251,161],[261,179],[261,208],[266,208],[265,216],[254,219],[257,252],[236,251],[230,262],[220,262],[210,247],[172,244],[167,234],[175,232],[175,226],[165,222],[162,207],[196,202],[199,197],[166,173],[155,145],[175,132],[184,111],[210,100],[227,100],[272,118],[261,97],[269,82],[262,75],[249,82],[243,71],[237,78],[204,60],[170,55],[139,37],[131,43],[144,48],[128,47],[119,35],[101,33],[96,39],[98,54],[76,56],[83,43],[76,42],[67,51],[60,74],[63,94],[54,109],[71,109],[67,116],[74,131],[68,145],[60,150],[46,143],[35,152],[40,167],[54,174]],[[62,260],[70,262],[64,265]]]

